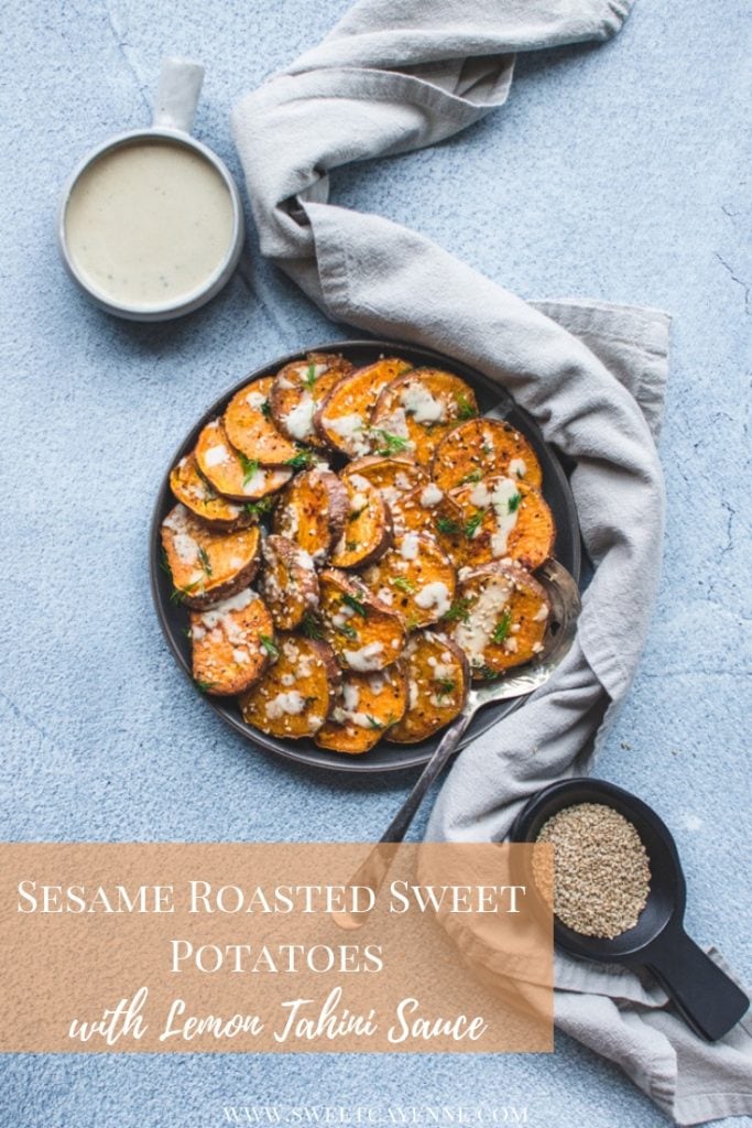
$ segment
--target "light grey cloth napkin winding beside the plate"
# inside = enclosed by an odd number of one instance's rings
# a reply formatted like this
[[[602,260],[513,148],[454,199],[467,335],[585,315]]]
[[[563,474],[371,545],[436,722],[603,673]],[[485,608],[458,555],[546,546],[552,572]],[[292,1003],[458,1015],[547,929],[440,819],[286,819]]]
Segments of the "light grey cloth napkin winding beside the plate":
[[[587,770],[629,688],[663,536],[655,449],[669,319],[528,303],[435,244],[327,203],[329,170],[450,136],[502,105],[514,53],[619,30],[630,0],[360,0],[232,115],[262,253],[334,320],[441,350],[503,384],[576,467],[594,566],[577,643],[524,710],[458,758],[428,837],[501,838],[525,797]],[[474,937],[476,948],[481,944]],[[706,1046],[632,972],[557,962],[561,1029],[680,1123],[752,1113],[752,1031]]]

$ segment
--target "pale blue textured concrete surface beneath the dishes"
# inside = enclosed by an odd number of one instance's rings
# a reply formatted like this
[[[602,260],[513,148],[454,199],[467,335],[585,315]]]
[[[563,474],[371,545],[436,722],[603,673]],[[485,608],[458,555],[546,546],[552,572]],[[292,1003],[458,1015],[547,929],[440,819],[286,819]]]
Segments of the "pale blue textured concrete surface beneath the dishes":
[[[196,414],[259,362],[342,331],[253,257],[194,317],[120,324],[76,292],[54,246],[61,183],[95,142],[148,121],[162,55],[205,62],[196,130],[238,170],[231,104],[346,6],[5,6],[3,837],[355,838],[378,835],[410,783],[301,770],[232,735],[178,675],[149,597],[152,497]],[[600,768],[663,813],[685,862],[690,927],[750,981],[747,24],[743,0],[638,0],[613,43],[521,59],[505,109],[437,149],[344,170],[334,192],[523,296],[674,315],[665,575]],[[374,1096],[527,1105],[547,1128],[666,1122],[565,1039],[554,1056],[461,1061],[0,1061],[2,1128],[198,1128],[230,1103]]]

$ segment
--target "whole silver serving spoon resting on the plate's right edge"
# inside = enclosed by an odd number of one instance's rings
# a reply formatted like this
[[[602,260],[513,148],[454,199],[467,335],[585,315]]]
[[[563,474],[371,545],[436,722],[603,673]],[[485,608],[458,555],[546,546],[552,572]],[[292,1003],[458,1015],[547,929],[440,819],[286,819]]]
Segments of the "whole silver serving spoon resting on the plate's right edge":
[[[536,572],[536,579],[546,589],[551,603],[543,650],[534,662],[522,667],[517,673],[470,688],[465,708],[444,733],[436,751],[426,764],[413,791],[380,840],[350,879],[350,887],[365,885],[378,893],[389,873],[395,853],[405,838],[428,787],[455,750],[462,733],[476,712],[484,705],[488,705],[489,702],[508,700],[512,697],[524,697],[527,694],[531,694],[533,689],[538,689],[548,681],[569,651],[577,629],[577,616],[581,609],[577,584],[567,570],[554,559],[547,561]],[[339,927],[347,931],[362,927],[369,916],[370,910],[333,914],[333,918]]]

